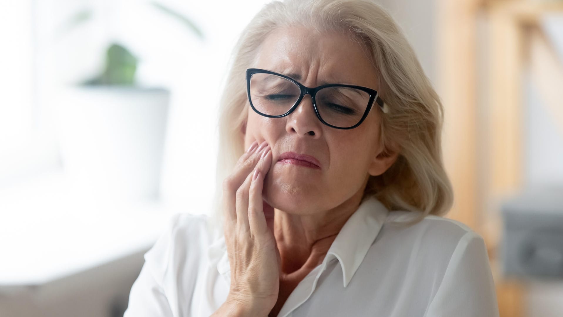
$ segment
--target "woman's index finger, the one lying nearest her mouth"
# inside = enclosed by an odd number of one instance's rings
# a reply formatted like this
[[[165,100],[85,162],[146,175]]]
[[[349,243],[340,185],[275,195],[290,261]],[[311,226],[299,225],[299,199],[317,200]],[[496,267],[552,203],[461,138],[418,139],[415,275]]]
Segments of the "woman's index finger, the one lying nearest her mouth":
[[[264,152],[263,158],[252,173],[253,177],[248,194],[248,223],[252,237],[264,235],[269,230],[263,211],[262,189],[264,177],[270,170],[271,162],[272,151],[268,149]]]

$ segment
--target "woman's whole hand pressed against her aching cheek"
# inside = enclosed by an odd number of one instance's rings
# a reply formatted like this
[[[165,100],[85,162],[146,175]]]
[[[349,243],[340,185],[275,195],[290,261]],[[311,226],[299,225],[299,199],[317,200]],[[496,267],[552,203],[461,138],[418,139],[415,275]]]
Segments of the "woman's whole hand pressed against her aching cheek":
[[[254,142],[223,182],[225,244],[231,267],[227,301],[267,315],[278,300],[280,255],[274,238],[272,208],[262,200],[270,170],[270,146]]]

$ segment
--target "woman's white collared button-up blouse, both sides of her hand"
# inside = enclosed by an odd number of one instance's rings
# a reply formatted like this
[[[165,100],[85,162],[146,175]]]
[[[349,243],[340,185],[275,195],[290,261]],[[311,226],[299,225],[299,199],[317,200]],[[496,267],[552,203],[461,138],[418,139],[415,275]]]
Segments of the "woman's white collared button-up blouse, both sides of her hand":
[[[366,199],[278,316],[498,316],[481,236],[437,216],[395,225],[413,216]],[[124,317],[209,316],[225,302],[225,237],[212,233],[208,220],[187,213],[172,217],[145,253]]]

